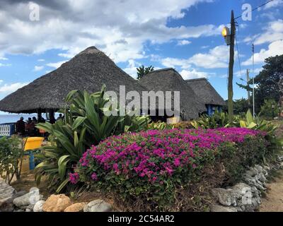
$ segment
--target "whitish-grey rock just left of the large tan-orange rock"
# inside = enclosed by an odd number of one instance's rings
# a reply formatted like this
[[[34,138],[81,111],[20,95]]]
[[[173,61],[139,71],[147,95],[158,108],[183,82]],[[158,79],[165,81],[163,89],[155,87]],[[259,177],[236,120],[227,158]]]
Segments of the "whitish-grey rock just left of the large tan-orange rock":
[[[40,201],[43,196],[40,195],[40,191],[37,188],[31,188],[28,194],[19,196],[13,199],[13,204],[15,206],[28,206],[30,204],[35,204],[37,201]]]

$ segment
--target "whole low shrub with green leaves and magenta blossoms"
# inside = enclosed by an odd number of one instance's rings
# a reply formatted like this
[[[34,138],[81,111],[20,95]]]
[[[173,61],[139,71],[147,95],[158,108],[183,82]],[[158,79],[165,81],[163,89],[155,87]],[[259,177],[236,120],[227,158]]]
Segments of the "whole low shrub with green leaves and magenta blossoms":
[[[228,156],[236,162],[233,155],[244,150],[250,154],[234,165],[255,163],[256,151],[265,151],[264,136],[246,128],[151,130],[112,136],[83,154],[70,181],[114,191],[132,203],[138,197],[151,210],[166,210],[176,188],[197,182],[202,169],[217,158]],[[250,142],[253,147],[243,148]],[[231,162],[227,163],[231,168]]]

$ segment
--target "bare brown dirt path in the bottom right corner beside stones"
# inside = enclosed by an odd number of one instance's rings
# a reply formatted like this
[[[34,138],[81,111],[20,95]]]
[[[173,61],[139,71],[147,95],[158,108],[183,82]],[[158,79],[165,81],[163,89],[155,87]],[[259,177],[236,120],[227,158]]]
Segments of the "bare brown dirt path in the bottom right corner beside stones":
[[[283,212],[283,169],[275,182],[267,184],[266,197],[262,198],[260,212]]]

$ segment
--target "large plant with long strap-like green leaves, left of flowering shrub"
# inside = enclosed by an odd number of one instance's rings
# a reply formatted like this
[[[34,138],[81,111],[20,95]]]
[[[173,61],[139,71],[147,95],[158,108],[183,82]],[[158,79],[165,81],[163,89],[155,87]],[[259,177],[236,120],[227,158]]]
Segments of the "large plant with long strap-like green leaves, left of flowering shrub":
[[[108,136],[128,131],[141,131],[149,123],[147,116],[125,116],[103,114],[105,85],[100,92],[89,94],[86,91],[72,90],[66,97],[67,106],[61,109],[64,119],[55,124],[37,124],[38,129],[50,133],[50,145],[46,145],[39,158],[42,162],[35,167],[37,184],[43,175],[50,181],[50,187],[57,186],[62,191],[69,183],[68,174],[91,145],[97,145]],[[112,110],[109,107],[108,110]],[[118,109],[114,109],[119,112]]]

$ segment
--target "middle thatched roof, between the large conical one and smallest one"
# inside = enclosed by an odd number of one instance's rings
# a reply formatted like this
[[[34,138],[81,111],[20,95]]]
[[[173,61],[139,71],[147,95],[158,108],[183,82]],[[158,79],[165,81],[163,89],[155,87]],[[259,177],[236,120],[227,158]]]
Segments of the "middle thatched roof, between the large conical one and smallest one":
[[[180,116],[183,120],[196,119],[207,109],[175,69],[161,69],[146,74],[139,81],[149,90],[180,91]],[[173,102],[172,102],[173,105]]]

